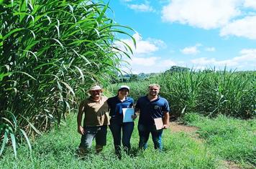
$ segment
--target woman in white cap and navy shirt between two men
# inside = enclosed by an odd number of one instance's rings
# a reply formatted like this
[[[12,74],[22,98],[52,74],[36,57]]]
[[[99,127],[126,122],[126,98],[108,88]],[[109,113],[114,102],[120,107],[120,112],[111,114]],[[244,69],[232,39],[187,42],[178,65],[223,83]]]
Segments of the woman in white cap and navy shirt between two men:
[[[128,97],[128,94],[129,87],[122,85],[119,87],[117,95],[107,100],[111,117],[109,128],[114,138],[114,148],[118,158],[121,158],[121,140],[127,153],[131,149],[130,140],[134,129],[134,122],[123,122],[123,108],[132,108],[134,105],[134,100],[132,97]]]

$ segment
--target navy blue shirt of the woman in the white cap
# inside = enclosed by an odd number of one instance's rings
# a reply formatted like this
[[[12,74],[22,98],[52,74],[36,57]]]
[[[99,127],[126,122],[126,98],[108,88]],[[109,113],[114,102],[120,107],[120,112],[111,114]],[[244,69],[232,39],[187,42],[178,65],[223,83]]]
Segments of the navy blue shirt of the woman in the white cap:
[[[126,99],[121,102],[117,96],[110,97],[106,101],[109,105],[109,115],[111,116],[111,121],[117,120],[122,122],[123,111],[122,108],[131,108],[134,105],[134,100],[132,97],[126,97]]]

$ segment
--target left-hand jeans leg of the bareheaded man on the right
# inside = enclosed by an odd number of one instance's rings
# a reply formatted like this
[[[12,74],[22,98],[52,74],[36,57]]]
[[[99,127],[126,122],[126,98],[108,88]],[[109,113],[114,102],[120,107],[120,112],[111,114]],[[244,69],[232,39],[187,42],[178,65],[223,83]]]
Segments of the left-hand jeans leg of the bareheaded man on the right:
[[[147,140],[150,137],[150,132],[147,126],[140,124],[138,125],[138,130],[140,136],[139,148],[145,150],[147,148]]]

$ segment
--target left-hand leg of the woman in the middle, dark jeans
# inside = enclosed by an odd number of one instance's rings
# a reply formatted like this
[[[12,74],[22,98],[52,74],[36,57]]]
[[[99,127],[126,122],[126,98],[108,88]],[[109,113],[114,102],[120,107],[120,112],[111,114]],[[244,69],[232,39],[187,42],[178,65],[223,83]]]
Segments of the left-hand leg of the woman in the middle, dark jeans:
[[[111,125],[109,125],[114,139],[116,155],[121,155],[121,127],[122,125],[118,123],[111,123]]]

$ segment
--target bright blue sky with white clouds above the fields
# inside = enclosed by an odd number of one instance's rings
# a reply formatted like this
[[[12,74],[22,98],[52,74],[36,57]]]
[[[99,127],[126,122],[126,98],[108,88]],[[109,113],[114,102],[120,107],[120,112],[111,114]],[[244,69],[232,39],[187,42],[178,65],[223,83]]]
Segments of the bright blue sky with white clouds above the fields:
[[[256,70],[256,0],[109,0],[108,16],[129,26],[133,74],[191,69]],[[116,45],[120,45],[116,42]]]

